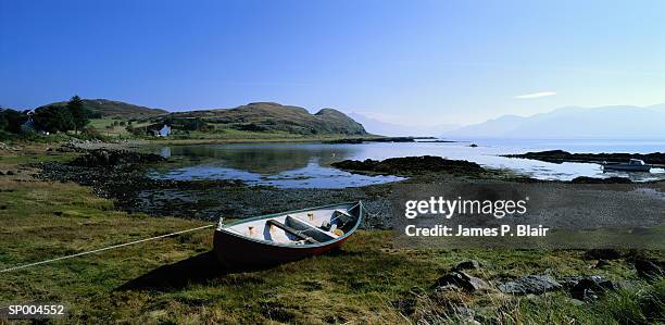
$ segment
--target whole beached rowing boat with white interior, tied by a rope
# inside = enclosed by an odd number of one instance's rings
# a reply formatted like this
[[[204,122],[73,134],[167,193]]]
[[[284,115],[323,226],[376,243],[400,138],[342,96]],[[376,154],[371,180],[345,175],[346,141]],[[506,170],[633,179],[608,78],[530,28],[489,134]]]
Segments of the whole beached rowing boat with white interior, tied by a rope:
[[[229,266],[264,266],[339,247],[361,224],[363,203],[341,203],[268,214],[219,225],[214,251]]]

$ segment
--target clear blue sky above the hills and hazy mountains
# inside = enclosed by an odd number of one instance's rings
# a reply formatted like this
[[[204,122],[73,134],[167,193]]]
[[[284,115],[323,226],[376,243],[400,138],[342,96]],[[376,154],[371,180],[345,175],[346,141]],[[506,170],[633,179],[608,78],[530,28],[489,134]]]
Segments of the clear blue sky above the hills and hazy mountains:
[[[401,124],[665,102],[665,1],[0,0],[0,105],[277,101]]]

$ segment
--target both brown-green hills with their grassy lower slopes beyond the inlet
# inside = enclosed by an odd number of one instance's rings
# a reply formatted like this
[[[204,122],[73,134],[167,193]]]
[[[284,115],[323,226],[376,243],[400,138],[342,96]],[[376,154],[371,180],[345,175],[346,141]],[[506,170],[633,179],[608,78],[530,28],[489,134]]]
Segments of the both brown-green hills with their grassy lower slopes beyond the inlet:
[[[57,102],[50,105],[65,105]],[[292,105],[256,102],[234,109],[168,113],[105,99],[84,99],[90,126],[111,138],[153,137],[163,125],[173,139],[275,139],[371,136],[362,124],[334,109],[315,114]]]

